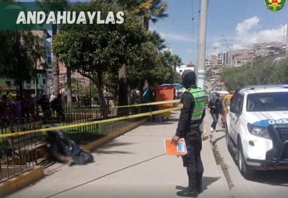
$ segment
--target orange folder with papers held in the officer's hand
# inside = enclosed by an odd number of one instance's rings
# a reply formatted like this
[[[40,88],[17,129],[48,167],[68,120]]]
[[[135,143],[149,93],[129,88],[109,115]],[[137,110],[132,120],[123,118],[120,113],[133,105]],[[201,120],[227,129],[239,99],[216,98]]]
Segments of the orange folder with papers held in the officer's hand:
[[[171,144],[171,139],[164,139],[164,146],[166,155],[185,155],[187,154],[187,147],[184,139],[179,139],[178,146]]]

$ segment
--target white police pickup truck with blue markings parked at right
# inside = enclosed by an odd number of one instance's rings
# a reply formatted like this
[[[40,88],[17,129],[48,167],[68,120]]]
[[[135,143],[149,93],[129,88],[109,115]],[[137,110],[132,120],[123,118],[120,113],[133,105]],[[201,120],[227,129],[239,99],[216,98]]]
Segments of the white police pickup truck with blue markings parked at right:
[[[238,89],[226,114],[226,143],[241,174],[288,169],[288,85]]]

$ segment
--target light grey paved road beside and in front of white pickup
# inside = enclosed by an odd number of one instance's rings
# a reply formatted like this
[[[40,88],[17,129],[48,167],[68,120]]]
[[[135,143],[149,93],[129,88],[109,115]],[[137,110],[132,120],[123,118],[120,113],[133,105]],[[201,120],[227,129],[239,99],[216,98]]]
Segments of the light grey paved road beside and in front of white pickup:
[[[204,120],[208,133],[212,118],[207,114]],[[212,133],[212,142],[218,148],[228,173],[228,184],[235,198],[288,198],[288,171],[261,171],[253,181],[245,180],[239,173],[234,156],[226,147],[225,132],[221,129],[220,119],[216,132]]]

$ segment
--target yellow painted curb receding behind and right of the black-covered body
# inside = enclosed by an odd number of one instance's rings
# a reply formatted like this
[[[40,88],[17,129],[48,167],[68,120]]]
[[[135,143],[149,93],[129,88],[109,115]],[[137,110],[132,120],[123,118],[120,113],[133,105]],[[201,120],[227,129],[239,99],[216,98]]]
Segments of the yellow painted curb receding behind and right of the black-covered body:
[[[140,125],[146,123],[148,120],[149,120],[149,118],[145,118],[145,119],[143,119],[143,120],[141,120],[141,121],[139,121],[137,123],[129,125],[129,126],[123,128],[123,129],[117,131],[117,132],[114,132],[113,134],[107,135],[107,136],[105,136],[105,137],[103,137],[103,138],[101,138],[99,140],[96,140],[96,141],[94,141],[92,143],[89,143],[89,144],[83,146],[82,149],[91,151],[91,150],[94,150],[96,148],[99,148],[100,146],[102,146],[103,144],[107,143],[108,141],[110,141],[110,140],[112,140],[112,139],[114,139],[114,138],[116,138],[116,137],[118,137],[118,136],[120,136],[120,135],[122,135],[122,134],[124,134],[126,132],[129,132],[129,131],[137,128],[137,127],[139,127]]]

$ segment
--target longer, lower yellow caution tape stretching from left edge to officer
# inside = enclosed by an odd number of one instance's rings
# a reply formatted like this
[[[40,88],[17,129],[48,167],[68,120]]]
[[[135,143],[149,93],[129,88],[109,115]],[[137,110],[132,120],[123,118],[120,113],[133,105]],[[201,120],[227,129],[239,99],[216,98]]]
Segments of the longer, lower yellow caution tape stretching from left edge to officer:
[[[159,110],[159,111],[153,111],[153,112],[148,112],[148,113],[142,113],[142,114],[136,114],[136,115],[131,115],[131,116],[123,116],[123,117],[112,118],[112,119],[107,119],[107,120],[100,120],[100,121],[93,121],[93,122],[88,122],[88,123],[80,123],[80,124],[75,124],[75,125],[62,126],[62,127],[39,129],[39,130],[32,130],[32,131],[27,131],[27,132],[1,134],[0,138],[25,135],[25,134],[36,133],[36,132],[62,130],[62,129],[68,129],[68,128],[73,128],[73,127],[82,127],[82,126],[87,126],[87,125],[95,125],[95,124],[99,124],[99,123],[107,123],[107,122],[113,122],[113,121],[119,121],[119,120],[126,120],[126,119],[130,119],[130,118],[139,118],[139,117],[151,116],[154,114],[162,114],[162,113],[177,111],[177,110],[180,110],[180,107],[175,107],[175,108],[171,108],[171,109],[164,109],[164,110]]]

